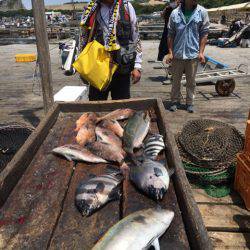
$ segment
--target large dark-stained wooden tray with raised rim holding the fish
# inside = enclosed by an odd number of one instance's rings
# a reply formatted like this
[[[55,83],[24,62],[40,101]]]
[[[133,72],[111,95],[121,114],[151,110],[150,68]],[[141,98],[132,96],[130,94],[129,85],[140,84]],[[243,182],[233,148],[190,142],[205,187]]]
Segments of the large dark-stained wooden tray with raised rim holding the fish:
[[[212,249],[200,212],[158,99],[62,103],[49,112],[13,160],[0,174],[0,248],[91,249],[98,239],[128,214],[157,204],[124,181],[120,201],[110,202],[89,218],[74,205],[80,180],[105,171],[103,164],[74,165],[51,154],[54,147],[71,143],[75,121],[86,111],[118,108],[148,110],[152,131],[165,138],[163,161],[175,168],[170,188],[160,206],[175,218],[160,240],[161,249]]]

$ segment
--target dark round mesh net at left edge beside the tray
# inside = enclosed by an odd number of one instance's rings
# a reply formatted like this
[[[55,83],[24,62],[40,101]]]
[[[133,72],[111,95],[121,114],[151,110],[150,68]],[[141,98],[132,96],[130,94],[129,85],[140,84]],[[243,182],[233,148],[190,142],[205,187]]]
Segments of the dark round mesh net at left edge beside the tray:
[[[11,161],[34,130],[21,123],[0,124],[0,172]]]

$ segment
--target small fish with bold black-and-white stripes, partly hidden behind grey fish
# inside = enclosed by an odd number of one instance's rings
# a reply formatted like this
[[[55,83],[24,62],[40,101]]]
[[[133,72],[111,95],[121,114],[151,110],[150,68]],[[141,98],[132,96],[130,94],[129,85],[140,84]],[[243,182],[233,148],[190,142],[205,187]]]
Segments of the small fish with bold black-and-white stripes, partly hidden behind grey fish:
[[[155,160],[158,154],[165,148],[163,136],[154,134],[144,142],[144,155]]]

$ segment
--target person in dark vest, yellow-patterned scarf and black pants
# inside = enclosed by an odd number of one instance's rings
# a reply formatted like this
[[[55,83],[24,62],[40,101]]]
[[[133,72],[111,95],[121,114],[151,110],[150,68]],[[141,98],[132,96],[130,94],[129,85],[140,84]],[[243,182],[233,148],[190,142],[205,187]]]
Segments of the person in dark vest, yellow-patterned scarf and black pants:
[[[94,24],[95,25],[94,25]],[[82,49],[89,42],[91,29],[92,40],[96,40],[105,46],[113,55],[113,60],[119,58],[121,48],[127,48],[133,44],[136,54],[135,59],[128,66],[118,70],[113,75],[112,81],[105,91],[90,86],[89,100],[107,100],[109,92],[113,100],[130,98],[130,79],[135,84],[140,81],[142,67],[142,48],[137,25],[135,10],[127,0],[91,0],[83,14],[82,25]],[[120,55],[120,57],[122,57]]]

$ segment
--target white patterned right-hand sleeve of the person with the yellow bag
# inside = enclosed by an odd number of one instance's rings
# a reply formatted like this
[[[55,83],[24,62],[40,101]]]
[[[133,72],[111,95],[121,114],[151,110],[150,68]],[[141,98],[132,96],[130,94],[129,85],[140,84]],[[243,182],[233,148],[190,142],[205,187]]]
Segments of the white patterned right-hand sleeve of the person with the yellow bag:
[[[142,68],[142,46],[141,46],[139,27],[138,27],[135,9],[131,3],[128,3],[128,12],[129,12],[130,22],[132,26],[132,39],[133,39],[133,42],[136,43],[135,68],[141,69]]]

